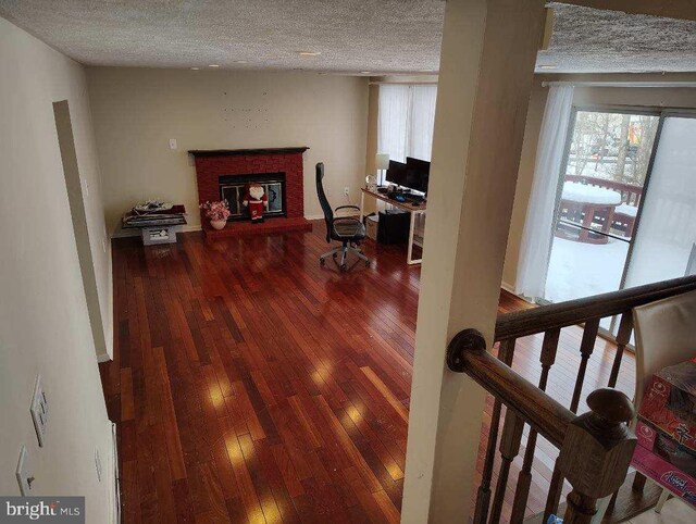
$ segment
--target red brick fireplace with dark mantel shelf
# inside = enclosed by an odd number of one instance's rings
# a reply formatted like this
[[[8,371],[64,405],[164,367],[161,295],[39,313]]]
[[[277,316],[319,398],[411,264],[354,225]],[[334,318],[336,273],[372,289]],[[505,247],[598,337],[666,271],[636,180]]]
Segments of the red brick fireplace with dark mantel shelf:
[[[207,236],[236,236],[254,233],[283,230],[311,230],[312,225],[304,219],[304,170],[302,153],[307,147],[275,149],[224,149],[189,151],[196,161],[199,202],[221,200],[223,196],[238,195],[248,182],[268,183],[270,198],[275,198],[271,212],[262,224],[251,224],[245,220],[244,209],[231,202],[231,209],[239,212],[231,216],[227,226],[217,232],[210,227],[201,214],[203,233]],[[258,178],[258,179],[257,179]],[[282,183],[282,184],[281,184]],[[237,192],[235,192],[237,191]],[[281,211],[278,211],[281,209]]]

